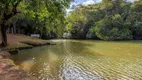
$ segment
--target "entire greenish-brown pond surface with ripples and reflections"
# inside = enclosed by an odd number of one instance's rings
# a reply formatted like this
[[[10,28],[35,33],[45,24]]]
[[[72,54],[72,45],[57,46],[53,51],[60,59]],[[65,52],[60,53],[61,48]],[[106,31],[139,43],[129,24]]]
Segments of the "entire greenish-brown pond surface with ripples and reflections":
[[[142,41],[53,41],[13,59],[38,80],[142,79]]]

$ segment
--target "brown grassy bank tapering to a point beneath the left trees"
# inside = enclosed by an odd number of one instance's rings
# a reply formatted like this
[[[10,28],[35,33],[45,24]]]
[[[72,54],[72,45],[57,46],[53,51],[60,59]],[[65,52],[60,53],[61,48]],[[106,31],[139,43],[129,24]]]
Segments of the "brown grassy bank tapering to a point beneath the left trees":
[[[1,36],[1,35],[0,35]],[[0,51],[4,50],[15,50],[15,49],[25,49],[32,48],[33,46],[49,45],[47,40],[32,38],[30,36],[25,36],[22,34],[8,34],[7,35],[8,46],[0,47]],[[1,37],[0,37],[1,42]]]

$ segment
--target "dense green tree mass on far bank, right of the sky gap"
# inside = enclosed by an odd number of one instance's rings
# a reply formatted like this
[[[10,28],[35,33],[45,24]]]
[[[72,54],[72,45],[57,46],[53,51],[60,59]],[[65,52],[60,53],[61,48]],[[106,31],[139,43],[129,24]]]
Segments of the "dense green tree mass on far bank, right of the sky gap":
[[[71,31],[72,38],[142,39],[142,0],[134,3],[102,0],[94,5],[81,5],[66,21],[66,30]]]

